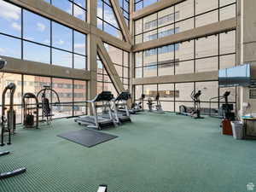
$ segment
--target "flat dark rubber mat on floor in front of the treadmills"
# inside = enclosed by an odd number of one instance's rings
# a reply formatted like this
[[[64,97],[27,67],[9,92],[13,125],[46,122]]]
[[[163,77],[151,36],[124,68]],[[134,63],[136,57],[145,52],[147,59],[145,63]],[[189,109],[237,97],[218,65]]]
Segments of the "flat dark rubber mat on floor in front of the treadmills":
[[[113,136],[102,131],[83,129],[79,131],[69,131],[66,133],[62,133],[58,135],[58,137],[65,138],[68,141],[78,143],[90,148],[96,146],[97,144],[108,142],[116,138],[117,136]]]

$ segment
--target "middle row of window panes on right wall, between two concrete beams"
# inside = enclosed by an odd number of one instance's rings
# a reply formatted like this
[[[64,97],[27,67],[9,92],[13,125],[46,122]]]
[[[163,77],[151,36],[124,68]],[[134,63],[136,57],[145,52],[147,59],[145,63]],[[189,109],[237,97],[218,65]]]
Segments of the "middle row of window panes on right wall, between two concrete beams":
[[[218,71],[233,66],[236,66],[236,31],[135,54],[136,78]]]

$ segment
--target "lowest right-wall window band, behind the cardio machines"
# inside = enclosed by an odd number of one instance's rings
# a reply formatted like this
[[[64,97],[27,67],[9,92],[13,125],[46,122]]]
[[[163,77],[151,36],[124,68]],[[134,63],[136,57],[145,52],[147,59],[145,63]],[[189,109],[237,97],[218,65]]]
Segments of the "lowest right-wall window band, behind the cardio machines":
[[[210,110],[210,98],[223,96],[225,91],[230,91],[229,102],[236,108],[236,88],[218,88],[218,81],[189,82],[176,84],[143,84],[135,86],[135,100],[140,101],[142,93],[145,94],[143,108],[148,109],[147,101],[160,94],[160,102],[164,111],[178,112],[180,106],[194,108],[191,94],[201,90],[201,113],[208,114]],[[218,108],[224,103],[223,99],[215,99],[211,102],[211,110],[218,112]]]

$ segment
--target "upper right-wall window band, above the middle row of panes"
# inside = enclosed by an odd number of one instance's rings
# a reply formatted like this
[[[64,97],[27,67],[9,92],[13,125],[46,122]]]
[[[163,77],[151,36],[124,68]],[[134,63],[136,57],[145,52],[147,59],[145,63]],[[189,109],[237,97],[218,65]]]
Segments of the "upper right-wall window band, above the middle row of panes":
[[[142,9],[146,2],[150,4],[156,1],[136,1],[136,10]],[[218,0],[186,0],[135,20],[135,44],[233,17],[236,17],[236,0],[220,0],[219,3]]]

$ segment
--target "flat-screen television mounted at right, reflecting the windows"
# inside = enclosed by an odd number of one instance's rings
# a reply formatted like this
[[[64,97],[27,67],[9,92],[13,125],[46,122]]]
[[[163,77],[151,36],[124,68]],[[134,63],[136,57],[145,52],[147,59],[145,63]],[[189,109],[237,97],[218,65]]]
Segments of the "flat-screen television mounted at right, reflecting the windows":
[[[225,68],[218,71],[218,85],[220,87],[249,86],[250,84],[250,64]]]

